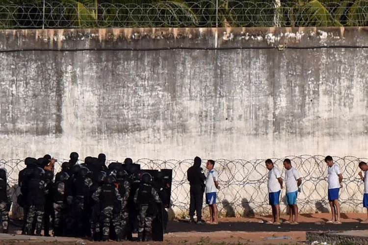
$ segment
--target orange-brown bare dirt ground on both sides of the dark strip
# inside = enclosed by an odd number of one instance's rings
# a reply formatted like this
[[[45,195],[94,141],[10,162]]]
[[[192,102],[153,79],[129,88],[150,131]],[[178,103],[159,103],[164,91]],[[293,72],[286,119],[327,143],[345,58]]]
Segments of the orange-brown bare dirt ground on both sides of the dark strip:
[[[288,216],[281,216],[281,220],[287,220]],[[331,218],[331,214],[328,213],[320,213],[320,214],[303,214],[299,217],[299,222],[308,222],[308,223],[316,223],[321,224],[325,221],[328,221]],[[360,222],[367,218],[367,214],[342,214],[342,222]],[[271,219],[271,216],[266,217],[253,217],[253,218],[221,218],[219,222],[264,222]],[[206,224],[210,225],[210,224]],[[273,225],[273,224],[269,224]],[[281,224],[282,225],[282,224]],[[368,230],[368,224],[367,224]],[[14,233],[18,233],[15,232]],[[284,239],[279,239],[281,237],[286,237]],[[289,239],[287,239],[289,238]],[[291,239],[290,239],[291,238]],[[91,242],[88,240],[84,240],[87,245],[135,245],[135,244],[144,244],[144,245],[155,245],[155,244],[190,244],[190,245],[286,245],[286,244],[305,244],[306,235],[305,231],[290,231],[290,232],[231,232],[231,231],[217,231],[217,232],[196,232],[196,231],[188,231],[188,232],[173,232],[167,233],[164,236],[164,242]],[[0,245],[14,245],[18,242],[16,241],[3,241],[0,242]],[[22,245],[82,245],[80,242],[42,242],[42,237],[34,237],[32,241],[24,241],[19,242]]]

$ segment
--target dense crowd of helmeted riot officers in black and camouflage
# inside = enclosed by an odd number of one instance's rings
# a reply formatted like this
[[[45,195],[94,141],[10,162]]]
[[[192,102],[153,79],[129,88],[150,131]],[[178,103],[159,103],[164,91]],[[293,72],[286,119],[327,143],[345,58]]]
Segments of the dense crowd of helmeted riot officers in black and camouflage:
[[[55,176],[55,160],[50,155],[26,158],[26,168],[19,172],[18,180],[21,195],[17,202],[24,208],[25,217],[22,234],[41,236],[43,229],[44,235],[50,236],[52,220],[53,236],[131,240],[137,220],[138,240],[151,240],[152,220],[158,212],[155,204],[161,202],[152,187],[152,176],[143,173],[138,188],[132,190],[131,173],[122,168],[122,163],[106,167],[102,153],[98,158],[86,157],[83,164],[77,164],[78,157],[77,152],[72,152],[69,162],[62,163]],[[131,158],[125,159],[124,164],[132,164]],[[0,183],[0,188],[3,186]]]

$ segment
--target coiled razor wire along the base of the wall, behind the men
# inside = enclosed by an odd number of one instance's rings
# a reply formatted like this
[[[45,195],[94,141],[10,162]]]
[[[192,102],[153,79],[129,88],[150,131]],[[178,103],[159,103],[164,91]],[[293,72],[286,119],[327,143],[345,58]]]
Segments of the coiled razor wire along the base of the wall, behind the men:
[[[302,193],[298,196],[298,206],[301,213],[329,212],[327,200],[327,166],[324,156],[321,155],[301,155],[289,156],[293,167],[295,167],[302,177]],[[271,212],[268,205],[267,193],[267,173],[264,165],[265,159],[259,160],[226,160],[218,159],[215,169],[219,173],[218,192],[219,212],[222,216],[240,217],[252,215],[264,215]],[[272,159],[276,167],[282,171],[285,179],[285,169],[283,160]],[[66,160],[65,160],[66,161]],[[343,175],[343,188],[340,194],[342,212],[362,212],[364,184],[358,176],[360,171],[358,163],[368,161],[368,159],[352,156],[334,157]],[[58,159],[55,165],[55,172],[60,170],[62,159]],[[110,160],[109,162],[116,162]],[[79,163],[81,163],[79,161]],[[189,209],[189,183],[186,179],[186,171],[193,164],[193,160],[150,160],[139,159],[135,163],[141,165],[141,169],[172,169],[172,211],[177,217],[188,214]],[[205,169],[206,160],[203,160]],[[8,171],[8,182],[13,186],[13,219],[22,217],[22,210],[16,204],[17,196],[20,194],[18,183],[18,173],[25,165],[23,160],[0,160],[1,167]],[[286,212],[285,189],[282,191],[281,211]],[[204,205],[205,207],[205,205]],[[206,213],[208,210],[204,208]]]

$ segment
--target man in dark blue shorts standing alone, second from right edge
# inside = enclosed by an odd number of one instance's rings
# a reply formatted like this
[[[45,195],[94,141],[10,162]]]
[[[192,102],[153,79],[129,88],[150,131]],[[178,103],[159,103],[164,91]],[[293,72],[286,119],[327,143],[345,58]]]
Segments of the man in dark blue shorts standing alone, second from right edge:
[[[324,161],[328,166],[328,201],[332,213],[332,219],[326,223],[341,224],[339,192],[340,188],[342,188],[342,174],[339,165],[334,163],[331,156],[326,156]]]

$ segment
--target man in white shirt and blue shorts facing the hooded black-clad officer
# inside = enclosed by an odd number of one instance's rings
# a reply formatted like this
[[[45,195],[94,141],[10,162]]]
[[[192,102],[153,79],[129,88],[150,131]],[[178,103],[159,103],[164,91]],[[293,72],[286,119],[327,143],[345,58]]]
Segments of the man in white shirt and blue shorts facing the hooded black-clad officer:
[[[209,224],[218,224],[216,196],[217,190],[220,190],[220,186],[218,185],[218,173],[213,168],[214,163],[213,160],[208,160],[206,165],[209,170],[206,178],[206,203],[210,205],[210,221],[207,222]]]

